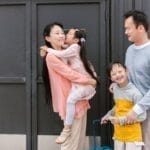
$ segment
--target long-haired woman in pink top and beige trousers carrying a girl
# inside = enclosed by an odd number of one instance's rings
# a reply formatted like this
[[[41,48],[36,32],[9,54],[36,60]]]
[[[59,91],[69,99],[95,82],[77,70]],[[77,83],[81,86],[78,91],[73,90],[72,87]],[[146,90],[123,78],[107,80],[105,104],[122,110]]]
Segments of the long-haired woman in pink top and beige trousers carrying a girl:
[[[62,50],[65,40],[63,26],[59,23],[47,25],[44,29],[44,39],[46,46],[55,50]],[[44,52],[41,51],[41,55],[45,55],[42,53]],[[46,55],[44,60],[43,79],[46,85],[47,101],[49,103],[49,94],[52,92],[54,111],[58,112],[60,117],[64,119],[66,100],[71,89],[71,82],[94,85],[95,80],[71,70],[67,65],[64,65],[61,60],[50,53]],[[61,150],[83,150],[87,109],[89,109],[88,101],[82,100],[77,102],[76,118],[72,126],[72,136],[67,138],[65,143],[61,145]]]

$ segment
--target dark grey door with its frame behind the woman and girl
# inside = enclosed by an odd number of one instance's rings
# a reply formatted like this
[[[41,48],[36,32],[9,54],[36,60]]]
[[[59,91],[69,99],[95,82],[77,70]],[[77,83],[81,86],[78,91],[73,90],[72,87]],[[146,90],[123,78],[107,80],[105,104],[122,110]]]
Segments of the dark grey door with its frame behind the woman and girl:
[[[98,75],[101,76],[101,86],[97,89],[95,98],[91,101],[91,110],[88,114],[87,134],[92,134],[91,124],[94,118],[100,118],[100,111],[104,111],[103,102],[106,99],[105,66],[107,60],[106,35],[109,12],[107,1],[88,0],[71,1],[33,0],[32,3],[32,58],[33,58],[33,106],[35,107],[34,126],[38,135],[56,135],[62,128],[62,122],[45,106],[43,84],[41,82],[41,58],[39,47],[44,44],[42,32],[46,24],[58,21],[64,24],[66,29],[71,27],[83,28],[87,32],[88,57],[94,64]],[[36,107],[37,106],[37,107]],[[35,135],[36,138],[37,135]]]

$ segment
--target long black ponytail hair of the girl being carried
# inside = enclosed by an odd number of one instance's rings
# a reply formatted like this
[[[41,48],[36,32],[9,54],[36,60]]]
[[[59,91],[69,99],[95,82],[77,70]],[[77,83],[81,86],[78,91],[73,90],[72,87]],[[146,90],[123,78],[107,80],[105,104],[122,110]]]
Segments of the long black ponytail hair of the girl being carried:
[[[93,67],[92,64],[90,63],[90,61],[87,59],[87,56],[86,56],[86,35],[85,35],[85,32],[83,30],[77,29],[75,31],[74,38],[79,39],[78,44],[81,47],[80,58],[83,62],[83,65],[84,65],[86,71],[91,75],[91,77],[93,79],[95,79],[97,81],[97,83],[100,83],[99,78],[94,74],[94,70],[92,70],[92,67]]]

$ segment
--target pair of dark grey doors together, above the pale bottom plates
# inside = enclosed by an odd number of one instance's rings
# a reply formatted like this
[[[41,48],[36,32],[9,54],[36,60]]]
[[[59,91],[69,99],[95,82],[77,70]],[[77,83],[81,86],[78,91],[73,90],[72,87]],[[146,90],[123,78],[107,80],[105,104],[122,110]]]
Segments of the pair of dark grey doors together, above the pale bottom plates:
[[[87,31],[88,57],[101,76],[101,86],[91,101],[92,119],[100,117],[106,99],[106,1],[5,0],[0,1],[0,132],[25,135],[26,149],[37,149],[37,135],[58,134],[62,122],[45,105],[39,47],[46,24],[59,21],[65,28]],[[101,94],[103,93],[103,94]],[[105,93],[105,94],[104,94]]]

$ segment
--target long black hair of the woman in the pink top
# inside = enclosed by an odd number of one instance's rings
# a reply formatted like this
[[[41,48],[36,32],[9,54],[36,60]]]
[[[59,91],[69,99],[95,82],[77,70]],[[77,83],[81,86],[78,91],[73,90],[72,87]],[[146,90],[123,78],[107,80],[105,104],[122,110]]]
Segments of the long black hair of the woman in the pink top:
[[[49,48],[52,48],[52,45],[46,41],[45,37],[46,36],[50,36],[51,30],[54,26],[59,26],[60,28],[63,29],[63,25],[61,23],[58,22],[54,22],[52,24],[48,24],[43,31],[43,37],[45,40],[45,45]],[[42,77],[43,77],[43,82],[44,82],[44,86],[45,86],[45,97],[46,97],[46,103],[48,105],[51,104],[51,89],[50,89],[50,79],[49,79],[49,73],[48,73],[48,68],[47,68],[47,64],[46,64],[46,56],[43,58],[43,69],[42,69]]]

